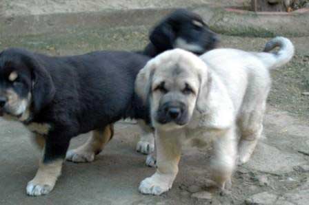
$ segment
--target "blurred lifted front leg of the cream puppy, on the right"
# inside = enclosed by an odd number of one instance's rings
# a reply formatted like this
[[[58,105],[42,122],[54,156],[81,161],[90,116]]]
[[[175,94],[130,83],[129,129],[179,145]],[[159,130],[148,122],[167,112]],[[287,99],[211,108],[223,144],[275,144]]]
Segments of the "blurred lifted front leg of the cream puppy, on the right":
[[[213,156],[210,161],[212,178],[217,186],[224,190],[235,169],[237,155],[237,140],[234,127],[219,131],[213,141]]]

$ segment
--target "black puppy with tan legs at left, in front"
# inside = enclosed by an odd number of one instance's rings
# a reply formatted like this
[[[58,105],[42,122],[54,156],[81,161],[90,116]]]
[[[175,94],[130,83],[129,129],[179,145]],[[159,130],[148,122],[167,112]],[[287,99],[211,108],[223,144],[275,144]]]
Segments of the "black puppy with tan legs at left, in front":
[[[148,120],[147,108],[134,97],[134,80],[149,59],[133,52],[0,53],[0,116],[23,122],[43,150],[28,195],[52,190],[72,137],[93,131],[86,144],[68,153],[74,162],[92,161],[112,138],[112,123],[127,117]]]

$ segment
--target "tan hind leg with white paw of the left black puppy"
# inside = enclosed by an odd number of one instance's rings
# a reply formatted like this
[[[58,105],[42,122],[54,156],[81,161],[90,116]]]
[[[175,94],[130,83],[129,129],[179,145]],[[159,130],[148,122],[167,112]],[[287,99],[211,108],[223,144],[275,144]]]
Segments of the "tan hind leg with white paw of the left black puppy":
[[[85,144],[66,153],[66,160],[72,162],[92,162],[94,160],[94,155],[99,154],[104,145],[112,139],[114,135],[113,126],[114,125],[108,125],[105,129],[92,131],[92,136]]]

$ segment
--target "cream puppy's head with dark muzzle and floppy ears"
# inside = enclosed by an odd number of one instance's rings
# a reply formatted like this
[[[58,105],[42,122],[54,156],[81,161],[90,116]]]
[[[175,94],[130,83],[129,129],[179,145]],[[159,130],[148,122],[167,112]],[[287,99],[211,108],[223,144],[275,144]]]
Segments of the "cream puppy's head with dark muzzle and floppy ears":
[[[207,79],[208,69],[199,57],[175,49],[152,58],[139,72],[135,89],[150,105],[156,128],[177,129],[190,122]]]

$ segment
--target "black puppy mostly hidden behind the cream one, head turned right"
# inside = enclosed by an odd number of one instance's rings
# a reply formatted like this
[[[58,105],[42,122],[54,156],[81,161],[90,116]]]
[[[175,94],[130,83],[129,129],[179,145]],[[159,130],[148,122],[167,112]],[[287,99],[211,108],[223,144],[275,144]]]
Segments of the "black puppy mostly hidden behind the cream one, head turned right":
[[[212,50],[218,43],[217,34],[212,32],[198,14],[179,9],[158,23],[150,33],[150,43],[142,54],[155,57],[165,50],[182,48],[195,54],[203,54]],[[143,121],[139,121],[141,139],[137,143],[137,151],[152,153],[155,143],[150,129]]]

